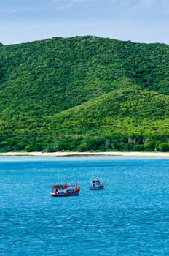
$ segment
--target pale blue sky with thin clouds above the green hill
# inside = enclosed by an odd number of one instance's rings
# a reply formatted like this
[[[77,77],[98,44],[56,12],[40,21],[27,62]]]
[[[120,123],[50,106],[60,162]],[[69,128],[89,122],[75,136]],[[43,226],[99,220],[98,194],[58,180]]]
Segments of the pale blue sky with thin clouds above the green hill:
[[[169,44],[169,0],[0,0],[0,42],[93,35]]]

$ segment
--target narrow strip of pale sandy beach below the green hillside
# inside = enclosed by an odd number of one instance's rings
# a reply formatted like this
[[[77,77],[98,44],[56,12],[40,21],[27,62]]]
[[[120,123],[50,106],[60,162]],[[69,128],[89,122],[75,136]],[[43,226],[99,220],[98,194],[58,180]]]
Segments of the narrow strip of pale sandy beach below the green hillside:
[[[0,156],[42,156],[42,157],[169,157],[165,152],[7,152]]]

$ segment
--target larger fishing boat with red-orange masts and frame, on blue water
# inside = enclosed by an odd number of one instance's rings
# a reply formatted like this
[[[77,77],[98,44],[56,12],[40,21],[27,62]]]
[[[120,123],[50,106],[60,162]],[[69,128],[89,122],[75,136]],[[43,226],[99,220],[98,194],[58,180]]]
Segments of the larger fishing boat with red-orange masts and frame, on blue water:
[[[77,187],[77,181],[76,184],[67,184],[64,182],[64,184],[54,184],[52,185],[52,192],[50,192],[50,195],[55,197],[63,197],[68,195],[79,195],[80,188]]]

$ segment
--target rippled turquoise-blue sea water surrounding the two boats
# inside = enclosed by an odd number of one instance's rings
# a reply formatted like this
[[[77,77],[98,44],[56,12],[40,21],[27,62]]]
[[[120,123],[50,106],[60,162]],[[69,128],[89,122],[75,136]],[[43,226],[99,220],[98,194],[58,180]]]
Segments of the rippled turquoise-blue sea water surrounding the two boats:
[[[76,179],[79,196],[49,195]],[[1,256],[169,255],[167,158],[0,157],[0,181]]]

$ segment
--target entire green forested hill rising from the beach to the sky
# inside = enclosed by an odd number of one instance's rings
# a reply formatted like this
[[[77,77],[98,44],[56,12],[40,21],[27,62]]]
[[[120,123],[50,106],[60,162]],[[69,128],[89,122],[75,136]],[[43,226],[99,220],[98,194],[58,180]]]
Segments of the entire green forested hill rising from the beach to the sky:
[[[169,45],[0,44],[0,151],[169,151]]]

